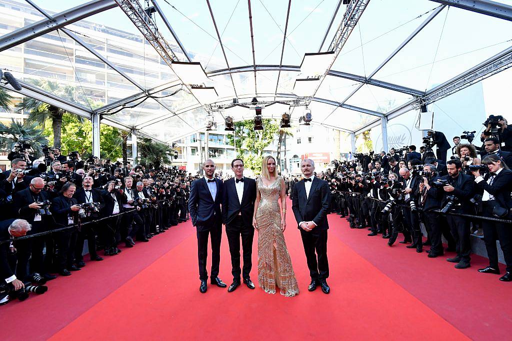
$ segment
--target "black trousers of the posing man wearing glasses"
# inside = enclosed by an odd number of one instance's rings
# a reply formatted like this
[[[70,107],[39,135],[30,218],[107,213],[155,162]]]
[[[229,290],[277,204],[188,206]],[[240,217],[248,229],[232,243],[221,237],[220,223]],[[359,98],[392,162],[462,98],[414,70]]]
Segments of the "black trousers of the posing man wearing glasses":
[[[226,235],[231,254],[231,274],[233,280],[240,281],[240,274],[244,279],[250,277],[252,268],[252,240],[254,228],[252,225],[244,225],[242,216],[236,216],[229,224],[226,224]],[[244,266],[240,270],[240,238],[242,239],[242,251]]]

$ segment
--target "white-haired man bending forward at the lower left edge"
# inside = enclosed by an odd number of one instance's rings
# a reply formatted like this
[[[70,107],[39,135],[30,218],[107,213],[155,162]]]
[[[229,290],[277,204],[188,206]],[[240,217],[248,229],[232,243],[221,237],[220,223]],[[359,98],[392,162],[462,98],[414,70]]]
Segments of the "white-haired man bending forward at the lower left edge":
[[[2,220],[0,221],[0,240],[23,237],[30,229],[30,224],[24,219]],[[24,288],[25,284],[14,275],[14,269],[9,264],[9,254],[11,253],[9,244],[9,242],[0,244],[0,278],[4,279],[7,284],[10,283],[14,290],[19,290]],[[7,302],[7,300],[0,301],[0,304]]]

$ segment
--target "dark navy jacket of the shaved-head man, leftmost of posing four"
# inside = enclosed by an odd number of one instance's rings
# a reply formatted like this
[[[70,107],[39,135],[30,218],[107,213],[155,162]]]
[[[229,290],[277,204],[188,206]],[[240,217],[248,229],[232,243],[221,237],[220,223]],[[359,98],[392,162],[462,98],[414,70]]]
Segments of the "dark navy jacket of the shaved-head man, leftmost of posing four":
[[[222,222],[221,202],[223,198],[222,180],[215,179],[217,195],[215,200],[211,197],[210,190],[204,177],[199,178],[190,185],[190,197],[188,199],[188,211],[192,218],[192,224],[198,231],[208,231],[211,223]],[[212,219],[214,219],[212,221]]]

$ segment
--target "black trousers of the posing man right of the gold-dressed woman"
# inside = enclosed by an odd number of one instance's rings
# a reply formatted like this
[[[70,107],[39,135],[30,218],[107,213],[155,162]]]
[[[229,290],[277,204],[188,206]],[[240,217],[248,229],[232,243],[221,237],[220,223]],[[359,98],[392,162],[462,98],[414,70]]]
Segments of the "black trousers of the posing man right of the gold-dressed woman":
[[[306,232],[301,229],[302,244],[312,280],[325,281],[329,277],[327,260],[327,230]],[[315,255],[316,252],[316,255]]]

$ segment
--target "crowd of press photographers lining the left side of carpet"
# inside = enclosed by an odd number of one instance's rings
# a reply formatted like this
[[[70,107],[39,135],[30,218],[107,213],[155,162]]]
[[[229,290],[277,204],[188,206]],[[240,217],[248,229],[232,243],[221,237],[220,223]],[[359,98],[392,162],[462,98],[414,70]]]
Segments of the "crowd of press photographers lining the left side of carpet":
[[[11,169],[0,173],[0,304],[45,293],[55,274],[84,267],[85,240],[91,261],[102,261],[100,252],[118,255],[119,244],[148,242],[188,219],[197,176],[184,170],[83,161],[53,147],[35,160],[30,149],[16,143]]]

